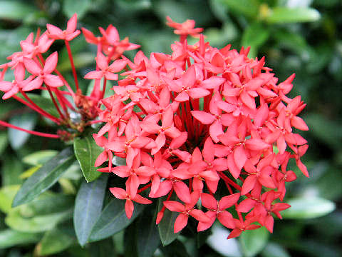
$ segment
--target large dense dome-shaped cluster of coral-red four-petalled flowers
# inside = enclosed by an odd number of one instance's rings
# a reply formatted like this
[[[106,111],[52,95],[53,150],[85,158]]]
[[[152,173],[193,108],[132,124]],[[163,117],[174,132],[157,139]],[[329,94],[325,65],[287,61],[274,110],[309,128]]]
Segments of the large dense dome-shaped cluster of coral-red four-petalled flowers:
[[[300,96],[286,96],[294,75],[278,83],[264,58],[247,57],[249,49],[217,49],[202,35],[188,45],[186,36],[197,33],[195,22],[168,24],[182,38],[172,44],[172,54],[147,58],[139,51],[134,61],[123,56],[108,65],[98,52],[100,71],[86,75],[118,79],[113,73],[130,67],[113,86],[115,94],[102,100],[105,126],[93,137],[104,151],[95,166],[109,160],[99,171],[127,178],[125,189],[110,191],[125,199],[128,218],[133,201],[152,202],[140,195],[148,189],[150,198],[167,196],[157,223],[165,208],[180,213],[175,233],[190,216],[199,221],[198,231],[218,218],[232,229],[229,238],[259,228],[256,223],[272,232],[272,213],[281,218],[279,211],[289,208],[281,202],[285,182],[296,179],[286,168],[289,160],[309,176],[300,160],[308,145],[294,131],[308,130],[297,116],[306,105]],[[125,158],[126,165],[113,167],[113,155]],[[227,196],[217,199],[219,184]],[[180,201],[170,201],[173,192]]]

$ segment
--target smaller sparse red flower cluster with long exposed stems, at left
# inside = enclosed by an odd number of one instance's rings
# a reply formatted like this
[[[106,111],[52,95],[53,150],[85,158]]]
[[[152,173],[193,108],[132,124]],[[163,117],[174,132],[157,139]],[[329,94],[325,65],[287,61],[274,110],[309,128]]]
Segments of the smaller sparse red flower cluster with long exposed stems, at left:
[[[58,134],[28,131],[8,124],[5,121],[0,121],[1,126],[9,126],[37,136],[61,138],[68,141],[71,138],[78,136],[79,133],[82,133],[85,126],[99,122],[96,120],[98,118],[99,110],[98,101],[103,99],[105,92],[105,83],[103,84],[102,91],[100,89],[100,79],[102,76],[105,76],[105,79],[117,80],[118,74],[113,74],[113,72],[121,71],[126,66],[126,61],[123,60],[115,61],[114,64],[108,66],[110,59],[115,60],[120,57],[124,51],[136,49],[139,46],[131,44],[128,41],[128,38],[120,41],[118,31],[113,26],[108,26],[108,29],[106,30],[99,28],[100,32],[103,34],[103,36],[99,37],[95,37],[87,29],[82,29],[86,41],[98,44],[98,51],[105,51],[105,53],[110,56],[107,59],[103,54],[98,54],[97,71],[93,71],[93,73],[88,76],[88,79],[97,80],[90,96],[85,96],[78,87],[76,67],[73,64],[73,55],[69,44],[69,41],[72,41],[76,36],[81,34],[81,31],[76,29],[76,26],[76,14],[68,21],[66,30],[47,24],[47,30],[43,32],[43,34],[38,30],[36,39],[34,39],[33,33],[29,34],[24,41],[20,42],[21,51],[11,54],[11,56],[7,58],[10,61],[0,65],[0,91],[4,92],[2,99],[16,99],[33,109],[33,111],[41,114],[41,116],[61,125]],[[65,43],[68,57],[71,62],[76,91],[73,91],[72,87],[57,69],[58,53],[54,52],[46,59],[43,57],[43,54],[50,49],[55,40],[63,40]],[[14,81],[4,81],[4,76],[9,68],[14,70]],[[61,90],[62,86],[66,86],[67,91]],[[53,116],[42,109],[41,106],[31,99],[30,94],[26,94],[28,91],[37,89],[48,91],[51,100],[58,111],[59,117]],[[73,103],[71,103],[70,98],[67,96],[72,96]],[[76,106],[76,108],[74,106]],[[81,114],[81,122],[75,123],[71,121],[71,112]],[[69,131],[74,131],[75,133]]]

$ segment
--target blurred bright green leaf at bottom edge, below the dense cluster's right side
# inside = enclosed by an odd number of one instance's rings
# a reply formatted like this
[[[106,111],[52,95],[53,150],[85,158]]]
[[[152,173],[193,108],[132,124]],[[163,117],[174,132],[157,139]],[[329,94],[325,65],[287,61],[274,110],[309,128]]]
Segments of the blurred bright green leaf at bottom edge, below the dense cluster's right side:
[[[258,228],[252,231],[244,231],[240,238],[240,244],[244,256],[256,256],[266,246],[269,240],[269,231],[266,228]]]

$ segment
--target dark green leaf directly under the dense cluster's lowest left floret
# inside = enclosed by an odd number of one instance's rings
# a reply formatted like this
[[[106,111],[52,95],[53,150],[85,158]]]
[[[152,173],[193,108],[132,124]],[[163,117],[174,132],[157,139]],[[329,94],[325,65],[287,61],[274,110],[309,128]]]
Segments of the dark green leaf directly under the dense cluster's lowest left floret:
[[[128,219],[125,213],[125,201],[114,198],[105,206],[93,226],[89,241],[98,241],[123,230],[139,216],[143,208],[143,205],[134,203],[133,216]]]

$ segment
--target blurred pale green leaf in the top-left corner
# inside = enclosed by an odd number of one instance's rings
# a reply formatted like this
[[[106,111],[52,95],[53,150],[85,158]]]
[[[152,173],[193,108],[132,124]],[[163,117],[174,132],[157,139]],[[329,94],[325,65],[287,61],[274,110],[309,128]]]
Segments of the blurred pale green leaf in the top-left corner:
[[[1,1],[0,19],[22,20],[36,9],[33,4],[26,4],[22,1]]]

